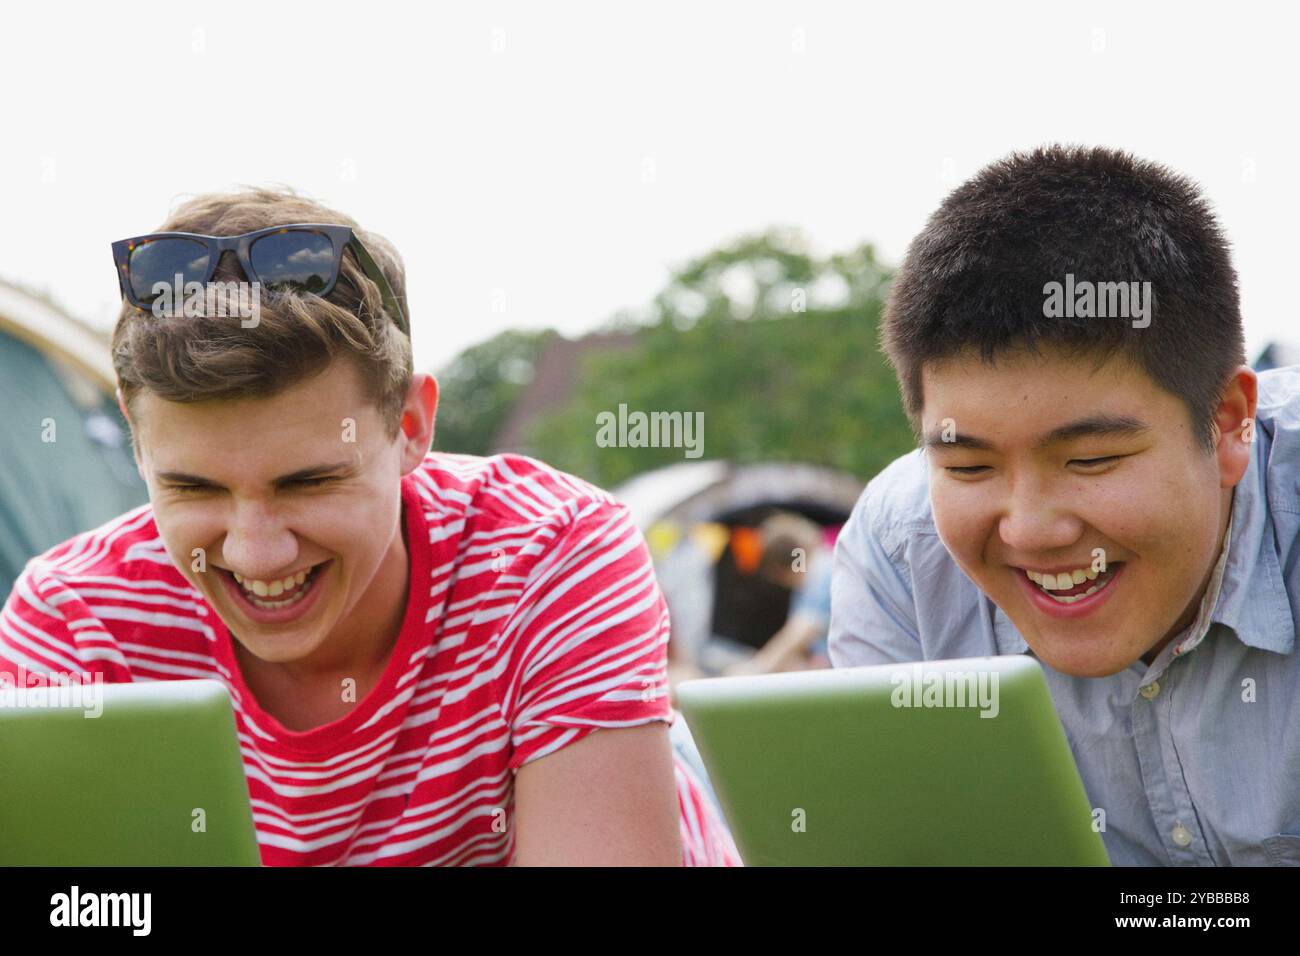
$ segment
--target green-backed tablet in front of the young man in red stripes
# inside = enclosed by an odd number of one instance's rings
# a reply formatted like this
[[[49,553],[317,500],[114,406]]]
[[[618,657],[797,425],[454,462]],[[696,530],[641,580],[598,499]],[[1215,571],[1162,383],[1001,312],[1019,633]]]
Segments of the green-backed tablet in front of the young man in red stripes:
[[[257,866],[216,680],[0,685],[0,866]]]

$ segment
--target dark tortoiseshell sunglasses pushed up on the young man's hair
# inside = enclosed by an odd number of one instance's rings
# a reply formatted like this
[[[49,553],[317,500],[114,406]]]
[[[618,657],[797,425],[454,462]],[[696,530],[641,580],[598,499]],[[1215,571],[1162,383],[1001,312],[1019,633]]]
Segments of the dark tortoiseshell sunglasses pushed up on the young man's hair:
[[[338,282],[343,248],[350,247],[356,264],[378,287],[384,308],[407,336],[411,326],[406,312],[393,293],[374,259],[351,226],[298,222],[287,226],[259,229],[243,235],[196,235],[194,233],[152,233],[120,239],[113,243],[113,263],[122,297],[138,308],[150,308],[172,289],[198,282],[207,286],[217,272],[221,254],[231,251],[250,282],[268,290],[277,286],[298,289],[315,295],[329,295]]]

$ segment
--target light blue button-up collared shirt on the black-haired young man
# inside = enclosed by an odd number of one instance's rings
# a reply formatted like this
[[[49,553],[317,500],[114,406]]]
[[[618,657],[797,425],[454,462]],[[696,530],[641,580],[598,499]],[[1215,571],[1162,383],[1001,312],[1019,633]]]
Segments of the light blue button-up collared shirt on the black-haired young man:
[[[1300,365],[1260,375],[1253,457],[1197,620],[1150,666],[1043,665],[1115,865],[1300,865]],[[935,528],[918,450],[835,550],[836,667],[1032,653]]]

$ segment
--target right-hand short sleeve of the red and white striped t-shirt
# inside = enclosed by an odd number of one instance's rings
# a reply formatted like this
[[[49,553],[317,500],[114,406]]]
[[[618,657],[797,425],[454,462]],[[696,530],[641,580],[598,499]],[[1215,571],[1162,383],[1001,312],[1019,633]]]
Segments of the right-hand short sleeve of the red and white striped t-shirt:
[[[577,506],[529,572],[511,632],[512,770],[602,727],[672,722],[668,609],[625,506]]]

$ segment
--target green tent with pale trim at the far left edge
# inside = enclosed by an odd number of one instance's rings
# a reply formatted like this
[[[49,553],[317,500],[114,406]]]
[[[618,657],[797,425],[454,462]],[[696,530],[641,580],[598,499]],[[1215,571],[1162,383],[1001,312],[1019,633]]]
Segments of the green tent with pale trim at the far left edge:
[[[108,341],[0,281],[0,602],[27,561],[148,501]]]

